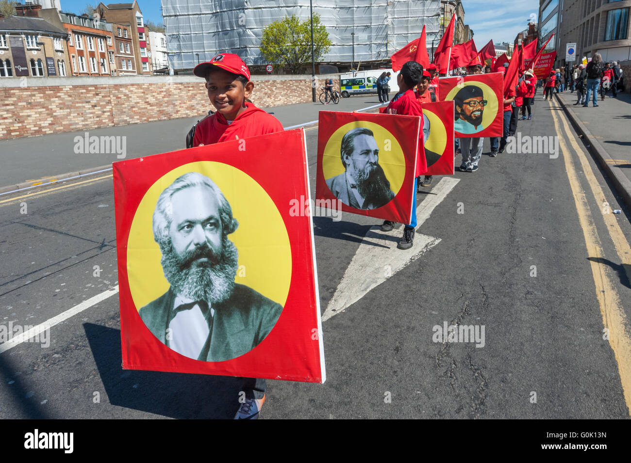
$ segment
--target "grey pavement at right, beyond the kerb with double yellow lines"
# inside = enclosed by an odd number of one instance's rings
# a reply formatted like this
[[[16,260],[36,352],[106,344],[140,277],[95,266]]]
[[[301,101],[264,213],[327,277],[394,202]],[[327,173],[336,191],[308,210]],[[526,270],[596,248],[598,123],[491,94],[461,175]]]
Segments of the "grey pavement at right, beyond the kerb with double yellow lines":
[[[604,100],[599,95],[597,108],[593,102],[587,108],[575,105],[576,93],[559,93],[557,98],[577,134],[631,209],[631,94],[618,92],[616,98],[611,98],[608,92]]]

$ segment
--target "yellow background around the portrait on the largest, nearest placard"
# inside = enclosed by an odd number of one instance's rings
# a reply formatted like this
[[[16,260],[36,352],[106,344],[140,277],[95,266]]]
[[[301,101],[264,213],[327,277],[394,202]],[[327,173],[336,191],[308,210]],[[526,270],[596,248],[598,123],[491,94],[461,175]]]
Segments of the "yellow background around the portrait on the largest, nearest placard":
[[[153,239],[153,212],[160,193],[179,176],[199,172],[215,182],[239,222],[228,235],[239,251],[235,282],[285,306],[292,280],[292,248],[285,222],[268,193],[256,180],[228,164],[211,161],[184,164],[164,174],[144,194],[127,241],[127,277],[137,310],[165,294],[160,247]]]

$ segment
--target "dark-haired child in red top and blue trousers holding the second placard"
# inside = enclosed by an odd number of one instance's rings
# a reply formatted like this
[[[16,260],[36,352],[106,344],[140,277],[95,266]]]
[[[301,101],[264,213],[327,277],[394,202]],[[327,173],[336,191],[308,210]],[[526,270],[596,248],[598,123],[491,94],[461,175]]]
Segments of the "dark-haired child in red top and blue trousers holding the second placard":
[[[403,229],[403,237],[399,240],[397,248],[410,249],[414,243],[414,232],[416,229],[416,189],[418,188],[418,176],[427,171],[427,161],[425,160],[425,148],[423,147],[423,111],[421,104],[416,99],[414,88],[423,77],[423,66],[416,61],[408,61],[399,72],[396,83],[399,86],[399,93],[394,95],[390,104],[386,108],[387,114],[401,114],[408,116],[420,116],[421,130],[418,139],[418,150],[416,151],[416,172],[414,175],[414,192],[412,194],[412,221]],[[384,220],[381,226],[382,231],[394,229],[394,222]]]

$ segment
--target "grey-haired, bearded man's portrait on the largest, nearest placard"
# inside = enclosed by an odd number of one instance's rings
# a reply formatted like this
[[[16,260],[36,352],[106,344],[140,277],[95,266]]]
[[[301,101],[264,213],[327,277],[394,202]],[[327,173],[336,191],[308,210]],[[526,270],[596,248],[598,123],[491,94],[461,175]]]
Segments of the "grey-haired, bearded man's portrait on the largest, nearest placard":
[[[170,287],[139,314],[181,355],[206,362],[239,357],[280,317],[280,304],[235,283],[239,253],[228,235],[238,226],[221,190],[201,173],[180,176],[158,198],[153,237]]]

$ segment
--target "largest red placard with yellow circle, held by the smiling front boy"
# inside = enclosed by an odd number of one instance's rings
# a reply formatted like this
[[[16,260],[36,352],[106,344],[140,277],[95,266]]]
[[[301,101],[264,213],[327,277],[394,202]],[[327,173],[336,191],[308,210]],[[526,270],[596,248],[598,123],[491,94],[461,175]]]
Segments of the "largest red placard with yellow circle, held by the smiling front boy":
[[[324,382],[304,130],[114,163],[124,369]]]

